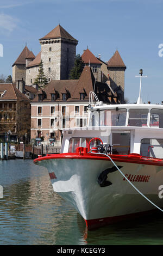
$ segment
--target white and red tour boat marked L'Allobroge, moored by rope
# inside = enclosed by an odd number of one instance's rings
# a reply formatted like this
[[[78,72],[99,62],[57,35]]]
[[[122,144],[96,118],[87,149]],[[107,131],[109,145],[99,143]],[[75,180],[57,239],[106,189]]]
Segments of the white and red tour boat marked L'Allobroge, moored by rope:
[[[97,100],[88,112],[87,127],[63,130],[60,154],[34,160],[48,169],[53,190],[88,229],[161,210],[163,105]]]

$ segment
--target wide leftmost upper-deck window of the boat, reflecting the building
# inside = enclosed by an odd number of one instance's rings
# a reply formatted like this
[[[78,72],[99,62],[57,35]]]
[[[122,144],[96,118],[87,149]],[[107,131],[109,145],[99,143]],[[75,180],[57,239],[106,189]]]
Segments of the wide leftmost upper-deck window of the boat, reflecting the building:
[[[92,111],[90,126],[125,126],[126,108],[104,109]]]

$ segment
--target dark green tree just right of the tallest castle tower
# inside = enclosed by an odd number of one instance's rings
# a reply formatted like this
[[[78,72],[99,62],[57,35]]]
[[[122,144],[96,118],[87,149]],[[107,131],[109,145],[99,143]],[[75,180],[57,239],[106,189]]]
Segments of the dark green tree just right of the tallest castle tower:
[[[70,77],[69,79],[79,79],[80,75],[82,74],[84,68],[84,62],[80,54],[76,55],[76,59],[74,61],[74,67],[70,70]]]

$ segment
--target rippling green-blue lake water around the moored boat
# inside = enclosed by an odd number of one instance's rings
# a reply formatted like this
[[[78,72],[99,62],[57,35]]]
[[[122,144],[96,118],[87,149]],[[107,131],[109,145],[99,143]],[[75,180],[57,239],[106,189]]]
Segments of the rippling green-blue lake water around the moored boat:
[[[0,245],[163,245],[163,215],[87,231],[32,160],[0,161]]]

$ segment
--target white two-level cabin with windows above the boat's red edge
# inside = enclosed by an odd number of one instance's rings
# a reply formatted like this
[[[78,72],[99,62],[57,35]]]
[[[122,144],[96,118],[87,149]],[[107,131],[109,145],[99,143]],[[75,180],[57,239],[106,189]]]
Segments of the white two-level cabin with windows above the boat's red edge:
[[[89,108],[87,127],[63,132],[61,153],[75,153],[98,137],[110,146],[109,154],[163,159],[163,105],[98,105]]]

